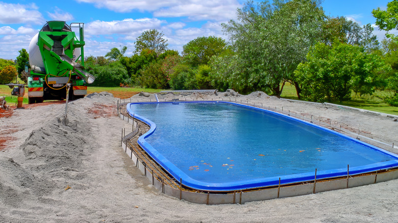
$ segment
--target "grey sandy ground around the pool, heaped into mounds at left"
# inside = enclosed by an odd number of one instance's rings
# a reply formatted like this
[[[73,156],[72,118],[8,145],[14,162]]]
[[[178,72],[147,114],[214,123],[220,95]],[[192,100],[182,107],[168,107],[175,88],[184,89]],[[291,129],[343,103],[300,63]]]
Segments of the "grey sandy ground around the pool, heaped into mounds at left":
[[[154,94],[145,95],[137,94],[131,99],[155,100]],[[361,134],[366,131],[376,140],[391,143],[398,140],[396,117],[272,99],[261,92],[248,96],[227,91],[217,95],[162,97],[238,98],[264,106],[283,106],[297,114],[311,114],[337,125],[351,126],[353,131],[360,124]],[[12,117],[0,119],[0,131],[5,127],[18,129],[12,133],[14,140],[0,151],[0,222],[394,222],[398,219],[398,180],[244,205],[207,206],[167,197],[152,187],[120,148],[121,128],[128,131],[131,123],[110,115],[116,110],[116,103],[117,99],[106,92],[70,102],[68,126],[61,123],[65,104],[16,109]]]

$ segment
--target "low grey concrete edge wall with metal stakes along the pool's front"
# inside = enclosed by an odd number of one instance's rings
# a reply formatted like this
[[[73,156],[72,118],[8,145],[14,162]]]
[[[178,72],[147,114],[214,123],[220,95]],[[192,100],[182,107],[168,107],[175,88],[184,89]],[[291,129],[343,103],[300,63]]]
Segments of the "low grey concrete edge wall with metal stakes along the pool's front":
[[[369,185],[379,182],[385,182],[389,180],[398,179],[398,170],[388,171],[381,174],[371,174],[363,176],[350,176],[348,179],[337,179],[337,180],[320,180],[319,182],[303,183],[296,185],[281,185],[280,188],[265,188],[254,191],[231,191],[230,193],[206,193],[206,192],[192,192],[186,190],[180,190],[162,184],[159,179],[154,176],[152,172],[146,169],[141,160],[138,159],[135,154],[122,142],[122,149],[130,157],[136,167],[141,171],[143,175],[152,185],[159,191],[163,192],[167,196],[175,197],[177,199],[189,201],[198,204],[244,204],[252,201],[264,201],[276,198],[286,198],[294,196],[302,196],[311,193],[319,193],[329,190],[352,188],[357,186]],[[348,186],[347,186],[348,185]]]

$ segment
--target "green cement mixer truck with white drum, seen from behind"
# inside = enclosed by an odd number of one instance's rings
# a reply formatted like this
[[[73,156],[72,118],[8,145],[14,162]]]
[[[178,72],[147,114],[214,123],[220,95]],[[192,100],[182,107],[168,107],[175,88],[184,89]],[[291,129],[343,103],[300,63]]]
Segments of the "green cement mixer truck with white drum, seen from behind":
[[[95,77],[84,68],[84,23],[48,21],[29,44],[29,104],[87,94]],[[79,31],[79,36],[75,32]],[[67,94],[67,91],[68,94]]]

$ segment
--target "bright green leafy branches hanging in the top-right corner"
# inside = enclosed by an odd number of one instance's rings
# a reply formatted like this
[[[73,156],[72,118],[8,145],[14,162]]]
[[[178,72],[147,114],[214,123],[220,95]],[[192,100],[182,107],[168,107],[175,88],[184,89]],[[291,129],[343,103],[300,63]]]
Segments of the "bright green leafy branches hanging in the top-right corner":
[[[372,11],[372,14],[376,18],[376,24],[380,29],[385,31],[398,29],[398,0],[389,2],[386,11],[377,8]],[[386,34],[386,36],[397,40],[392,34]]]

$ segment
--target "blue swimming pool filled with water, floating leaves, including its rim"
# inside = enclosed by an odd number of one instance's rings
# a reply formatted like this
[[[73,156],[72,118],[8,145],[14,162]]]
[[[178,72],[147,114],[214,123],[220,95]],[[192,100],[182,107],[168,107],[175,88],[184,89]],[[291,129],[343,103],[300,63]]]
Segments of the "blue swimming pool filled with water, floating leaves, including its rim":
[[[367,173],[398,157],[329,129],[230,102],[130,103],[139,145],[188,187],[231,191]],[[156,123],[156,124],[155,124]]]

